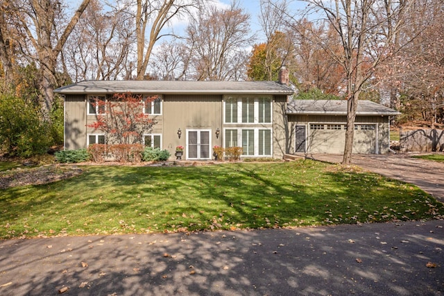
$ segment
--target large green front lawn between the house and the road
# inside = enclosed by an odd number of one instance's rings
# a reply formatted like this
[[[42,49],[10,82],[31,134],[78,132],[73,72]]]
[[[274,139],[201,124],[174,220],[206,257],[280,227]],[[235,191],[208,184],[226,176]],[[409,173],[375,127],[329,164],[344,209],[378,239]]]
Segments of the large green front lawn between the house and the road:
[[[91,166],[0,193],[0,238],[294,227],[442,217],[422,190],[315,161]]]

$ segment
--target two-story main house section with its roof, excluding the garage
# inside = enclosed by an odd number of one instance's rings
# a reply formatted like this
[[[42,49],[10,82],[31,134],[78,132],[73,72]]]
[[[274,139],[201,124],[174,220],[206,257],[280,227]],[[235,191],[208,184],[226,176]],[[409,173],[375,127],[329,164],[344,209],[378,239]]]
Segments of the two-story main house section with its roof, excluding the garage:
[[[159,99],[144,108],[157,124],[144,135],[145,145],[185,147],[188,160],[212,159],[212,147],[243,147],[244,157],[282,158],[286,81],[82,81],[55,90],[65,97],[65,149],[105,141],[87,124],[99,110],[92,102],[132,92]]]

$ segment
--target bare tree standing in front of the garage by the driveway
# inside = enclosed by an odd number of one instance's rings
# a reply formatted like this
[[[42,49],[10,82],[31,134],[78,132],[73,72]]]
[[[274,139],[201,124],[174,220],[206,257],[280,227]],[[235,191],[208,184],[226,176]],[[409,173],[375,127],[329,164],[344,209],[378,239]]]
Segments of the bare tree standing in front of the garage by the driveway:
[[[334,30],[334,35],[311,36],[311,42],[326,50],[345,72],[347,106],[347,131],[343,164],[352,160],[353,137],[357,101],[364,86],[375,74],[375,69],[389,54],[393,54],[393,38],[404,26],[404,15],[408,12],[411,0],[392,1],[390,14],[387,14],[383,0],[306,0],[309,11],[316,12],[315,23],[327,23]],[[320,15],[323,17],[320,17]],[[384,31],[388,20],[391,21],[391,33]],[[289,24],[298,21],[289,15]],[[330,38],[339,38],[341,51],[332,50]]]

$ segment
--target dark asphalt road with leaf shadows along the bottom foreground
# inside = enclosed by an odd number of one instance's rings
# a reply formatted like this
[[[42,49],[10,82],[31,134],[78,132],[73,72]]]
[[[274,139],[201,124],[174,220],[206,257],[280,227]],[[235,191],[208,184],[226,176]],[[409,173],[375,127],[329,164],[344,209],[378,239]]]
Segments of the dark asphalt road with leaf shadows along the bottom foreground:
[[[4,240],[0,295],[443,295],[443,227]]]

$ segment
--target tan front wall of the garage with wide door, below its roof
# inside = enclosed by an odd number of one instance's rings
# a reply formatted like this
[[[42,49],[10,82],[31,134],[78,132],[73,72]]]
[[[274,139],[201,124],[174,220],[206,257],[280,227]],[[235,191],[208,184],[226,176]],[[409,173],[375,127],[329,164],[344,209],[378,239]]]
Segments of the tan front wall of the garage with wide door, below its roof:
[[[289,126],[292,132],[296,125],[305,126],[307,153],[343,153],[346,122],[345,115],[289,115]],[[386,154],[388,152],[390,145],[388,117],[357,116],[355,123],[358,130],[355,130],[353,153]],[[320,124],[323,129],[310,129],[310,124]],[[364,130],[368,126],[374,127]],[[296,145],[293,138],[290,138],[290,142],[290,151],[295,153]]]

